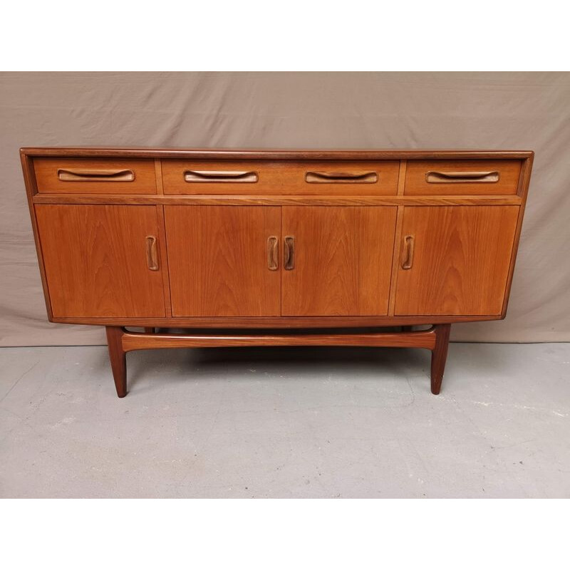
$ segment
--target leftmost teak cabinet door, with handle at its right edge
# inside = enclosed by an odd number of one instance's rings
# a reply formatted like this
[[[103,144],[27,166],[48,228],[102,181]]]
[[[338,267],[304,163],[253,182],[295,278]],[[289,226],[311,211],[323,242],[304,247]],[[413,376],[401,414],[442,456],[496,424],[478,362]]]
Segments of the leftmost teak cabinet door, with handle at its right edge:
[[[53,316],[165,316],[155,206],[38,204],[36,217]]]

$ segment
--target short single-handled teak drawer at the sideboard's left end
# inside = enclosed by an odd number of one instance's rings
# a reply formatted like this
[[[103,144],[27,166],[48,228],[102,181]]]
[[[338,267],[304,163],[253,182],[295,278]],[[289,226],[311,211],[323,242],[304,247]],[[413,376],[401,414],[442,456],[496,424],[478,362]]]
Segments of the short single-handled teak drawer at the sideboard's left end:
[[[35,158],[40,194],[156,194],[154,160]]]

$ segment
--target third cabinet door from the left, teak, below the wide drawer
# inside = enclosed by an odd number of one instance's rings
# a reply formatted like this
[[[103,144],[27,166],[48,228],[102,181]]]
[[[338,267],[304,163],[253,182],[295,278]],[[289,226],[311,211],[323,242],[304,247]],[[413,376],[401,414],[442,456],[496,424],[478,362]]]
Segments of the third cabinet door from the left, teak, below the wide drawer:
[[[284,316],[388,314],[396,208],[283,207]]]

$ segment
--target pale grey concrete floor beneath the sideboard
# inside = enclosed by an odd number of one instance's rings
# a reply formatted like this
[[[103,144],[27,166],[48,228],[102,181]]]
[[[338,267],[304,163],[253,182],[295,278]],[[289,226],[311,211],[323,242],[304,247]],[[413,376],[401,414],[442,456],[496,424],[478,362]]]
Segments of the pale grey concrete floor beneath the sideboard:
[[[1,497],[570,497],[570,343],[0,349]]]

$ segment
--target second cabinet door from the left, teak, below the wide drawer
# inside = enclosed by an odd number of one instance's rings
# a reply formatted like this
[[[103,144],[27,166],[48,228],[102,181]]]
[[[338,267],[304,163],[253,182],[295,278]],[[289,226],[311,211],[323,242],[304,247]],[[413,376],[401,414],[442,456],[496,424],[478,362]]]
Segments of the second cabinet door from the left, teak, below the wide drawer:
[[[165,222],[172,316],[279,316],[279,270],[268,259],[279,207],[166,206]]]

